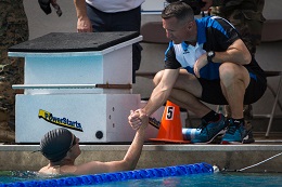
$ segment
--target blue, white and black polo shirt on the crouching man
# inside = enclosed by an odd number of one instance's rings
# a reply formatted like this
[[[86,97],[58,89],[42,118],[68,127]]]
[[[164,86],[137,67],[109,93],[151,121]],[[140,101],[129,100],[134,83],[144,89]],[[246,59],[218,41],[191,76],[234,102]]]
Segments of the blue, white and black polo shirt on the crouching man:
[[[208,51],[223,52],[238,39],[240,36],[236,29],[225,18],[218,16],[206,16],[195,19],[197,26],[197,42],[193,46],[185,42],[175,44],[169,42],[168,49],[165,52],[165,68],[178,69],[185,68],[194,75],[194,64],[196,59]],[[220,63],[208,62],[200,70],[200,76],[203,79],[216,80],[219,79]],[[253,58],[249,65],[245,66],[249,71],[262,70]],[[253,77],[253,76],[251,76]]]

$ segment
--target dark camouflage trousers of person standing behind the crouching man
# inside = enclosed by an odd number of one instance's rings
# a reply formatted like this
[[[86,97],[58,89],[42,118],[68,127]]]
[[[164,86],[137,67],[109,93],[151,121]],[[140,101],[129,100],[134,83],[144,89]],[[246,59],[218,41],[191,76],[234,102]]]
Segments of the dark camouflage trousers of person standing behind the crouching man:
[[[265,0],[223,0],[216,4],[211,14],[227,18],[241,34],[241,37],[252,54],[256,53],[256,46],[261,40],[264,22],[262,15]]]

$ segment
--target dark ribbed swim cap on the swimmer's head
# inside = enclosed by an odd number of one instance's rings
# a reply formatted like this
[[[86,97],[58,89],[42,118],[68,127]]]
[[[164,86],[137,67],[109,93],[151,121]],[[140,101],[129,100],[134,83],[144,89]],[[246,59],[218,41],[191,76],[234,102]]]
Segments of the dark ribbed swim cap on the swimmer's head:
[[[49,131],[40,142],[40,151],[51,162],[62,160],[72,148],[75,136],[64,128]]]

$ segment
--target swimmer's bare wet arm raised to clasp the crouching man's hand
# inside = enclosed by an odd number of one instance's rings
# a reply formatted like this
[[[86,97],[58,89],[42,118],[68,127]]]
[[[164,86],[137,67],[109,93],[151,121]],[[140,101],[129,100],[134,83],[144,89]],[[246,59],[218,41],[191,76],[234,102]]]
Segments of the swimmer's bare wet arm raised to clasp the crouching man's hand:
[[[141,121],[140,128],[137,130],[136,136],[127,150],[125,158],[120,161],[100,162],[92,161],[77,166],[75,174],[95,174],[117,171],[134,170],[137,162],[141,156],[143,143],[145,138],[145,129],[149,123],[149,117],[141,109],[137,110]],[[131,113],[133,115],[133,113]]]

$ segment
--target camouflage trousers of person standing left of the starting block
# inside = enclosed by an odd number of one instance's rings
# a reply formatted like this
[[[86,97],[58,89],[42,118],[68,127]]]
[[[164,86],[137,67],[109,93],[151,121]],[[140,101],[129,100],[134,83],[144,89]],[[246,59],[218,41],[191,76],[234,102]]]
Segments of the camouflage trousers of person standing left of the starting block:
[[[0,112],[12,115],[13,84],[24,83],[24,59],[8,57],[8,49],[28,40],[23,0],[0,0]]]

